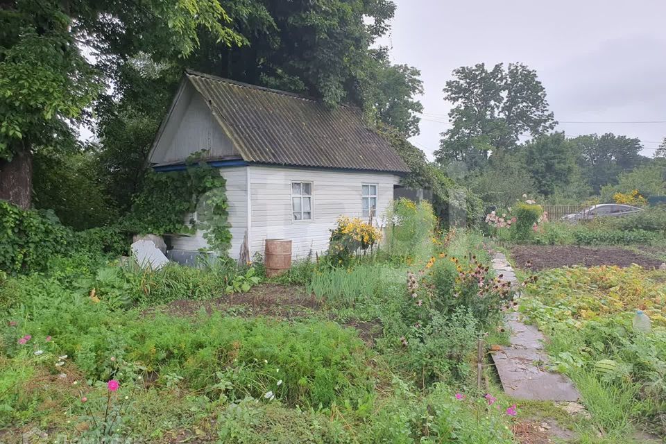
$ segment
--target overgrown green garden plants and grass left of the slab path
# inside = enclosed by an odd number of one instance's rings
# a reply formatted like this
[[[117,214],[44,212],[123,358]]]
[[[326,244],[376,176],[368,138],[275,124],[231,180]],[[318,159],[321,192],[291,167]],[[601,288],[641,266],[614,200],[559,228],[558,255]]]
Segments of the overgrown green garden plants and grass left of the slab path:
[[[185,427],[230,443],[508,444],[504,406],[489,409],[483,393],[470,389],[465,398],[451,387],[463,390],[471,377],[479,319],[463,305],[439,311],[442,296],[425,277],[411,290],[418,298],[405,285],[410,268],[432,270],[430,253],[450,247],[465,257],[481,238],[437,239],[432,211],[427,220],[429,230],[408,230],[424,246],[411,267],[384,250],[351,268],[298,264],[281,279],[307,279],[330,311],[289,322],[249,316],[249,307],[155,307],[235,291],[239,276],[256,282],[253,268],[226,261],[142,271],[79,254],[51,258],[41,274],[1,278],[0,309],[10,322],[0,326],[0,424],[13,431],[49,422],[71,438],[92,436],[110,393],[104,382],[114,379],[112,411],[125,396],[130,405],[114,427],[123,438],[151,441]],[[77,242],[114,248],[99,229]],[[381,323],[373,350],[331,318]]]

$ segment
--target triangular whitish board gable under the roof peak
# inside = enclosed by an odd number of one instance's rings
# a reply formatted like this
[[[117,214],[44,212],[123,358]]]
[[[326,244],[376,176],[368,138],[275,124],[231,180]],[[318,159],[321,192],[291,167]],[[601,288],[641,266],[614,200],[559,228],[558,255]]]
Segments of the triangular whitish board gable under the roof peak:
[[[186,85],[150,160],[153,164],[185,162],[189,155],[202,150],[208,151],[211,158],[238,155],[201,94]]]

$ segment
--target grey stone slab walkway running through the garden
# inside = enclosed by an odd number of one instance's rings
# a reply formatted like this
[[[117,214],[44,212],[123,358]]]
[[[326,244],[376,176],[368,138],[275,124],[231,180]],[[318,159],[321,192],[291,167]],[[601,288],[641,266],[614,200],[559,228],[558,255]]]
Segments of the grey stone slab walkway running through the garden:
[[[518,287],[515,272],[502,253],[493,257],[493,268],[502,279]],[[511,346],[493,352],[499,380],[507,395],[522,400],[577,401],[580,394],[571,379],[545,368],[548,355],[543,349],[545,336],[532,325],[520,322],[512,312],[504,319],[511,331]]]

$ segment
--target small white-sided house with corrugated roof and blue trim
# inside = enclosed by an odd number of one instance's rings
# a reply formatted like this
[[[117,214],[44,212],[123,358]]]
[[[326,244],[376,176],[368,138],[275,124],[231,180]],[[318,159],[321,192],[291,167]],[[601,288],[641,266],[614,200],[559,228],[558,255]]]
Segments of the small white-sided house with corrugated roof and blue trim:
[[[307,96],[187,71],[149,161],[177,171],[200,151],[227,181],[236,259],[246,236],[249,257],[264,253],[265,239],[291,239],[295,259],[322,253],[339,216],[377,221],[409,172],[358,108],[329,110]],[[201,232],[170,241],[174,250],[207,248]]]

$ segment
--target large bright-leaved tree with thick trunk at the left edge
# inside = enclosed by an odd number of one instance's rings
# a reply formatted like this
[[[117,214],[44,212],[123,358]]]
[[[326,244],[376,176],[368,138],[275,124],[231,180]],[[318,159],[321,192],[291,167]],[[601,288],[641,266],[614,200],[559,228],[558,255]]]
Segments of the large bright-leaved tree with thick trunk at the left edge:
[[[92,59],[188,56],[200,29],[244,44],[230,23],[217,0],[1,1],[0,198],[30,205],[33,153],[58,148],[106,86]]]

